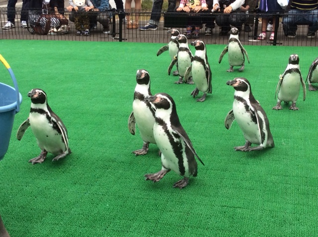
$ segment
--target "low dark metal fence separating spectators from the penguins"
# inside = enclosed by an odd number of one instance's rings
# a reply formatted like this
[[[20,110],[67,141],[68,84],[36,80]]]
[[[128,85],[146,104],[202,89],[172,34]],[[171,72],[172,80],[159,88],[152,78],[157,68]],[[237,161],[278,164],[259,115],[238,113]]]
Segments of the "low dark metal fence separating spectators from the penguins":
[[[87,12],[91,14],[90,12]],[[53,32],[48,35],[38,35],[31,32],[30,27],[23,28],[20,23],[21,8],[15,10],[15,27],[11,29],[2,29],[7,21],[7,8],[0,7],[1,18],[1,30],[0,39],[19,39],[19,40],[65,40],[65,41],[105,41],[105,42],[148,42],[148,43],[166,43],[170,39],[170,35],[167,34],[168,27],[176,28],[180,33],[185,33],[187,18],[200,25],[199,39],[203,40],[206,44],[227,44],[229,35],[220,35],[221,27],[213,22],[215,26],[212,29],[211,35],[205,35],[207,19],[213,19],[220,13],[180,13],[180,12],[159,12],[160,23],[157,30],[140,30],[139,27],[146,25],[151,17],[150,11],[136,11],[130,10],[126,12],[118,12],[113,9],[111,12],[111,24],[110,33],[103,33],[103,26],[97,23],[95,29],[90,30],[89,36],[80,35],[77,36],[77,30],[74,22],[69,20],[69,25],[66,31]],[[94,13],[96,14],[96,12]],[[106,13],[98,13],[106,14]],[[107,13],[108,14],[108,13]],[[137,29],[127,29],[127,21],[124,19],[125,15],[128,15],[130,19],[138,19],[139,27]],[[236,13],[232,13],[236,14]],[[257,12],[249,13],[254,18],[254,24],[251,26],[251,32],[244,32],[244,25],[240,31],[239,39],[244,45],[274,45],[274,46],[317,46],[317,38],[307,37],[308,24],[306,22],[298,24],[296,36],[289,38],[284,34],[283,25],[281,23],[284,14],[266,15]],[[70,18],[70,12],[65,9],[65,16]],[[272,29],[275,32],[274,40],[269,40],[271,32],[266,33],[265,40],[258,40],[257,37],[261,33],[261,20],[262,17],[275,18],[276,27]],[[203,20],[204,19],[204,20]]]

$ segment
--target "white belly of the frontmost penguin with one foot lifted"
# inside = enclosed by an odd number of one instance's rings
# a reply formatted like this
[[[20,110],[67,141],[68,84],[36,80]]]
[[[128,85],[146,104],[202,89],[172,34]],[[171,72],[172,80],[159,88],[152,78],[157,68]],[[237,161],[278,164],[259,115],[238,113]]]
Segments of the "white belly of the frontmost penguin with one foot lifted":
[[[173,148],[166,131],[158,123],[154,126],[154,136],[161,151],[162,165],[180,175],[178,158],[173,152]]]

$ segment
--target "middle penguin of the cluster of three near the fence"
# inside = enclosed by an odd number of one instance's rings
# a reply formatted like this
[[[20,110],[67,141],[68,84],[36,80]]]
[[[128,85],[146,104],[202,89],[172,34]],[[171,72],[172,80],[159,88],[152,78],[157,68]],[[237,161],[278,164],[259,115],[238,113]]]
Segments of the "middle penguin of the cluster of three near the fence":
[[[191,61],[193,59],[193,55],[188,46],[188,39],[185,35],[178,35],[177,41],[179,42],[179,49],[177,55],[171,61],[168,68],[168,75],[170,75],[171,69],[175,63],[177,63],[177,70],[179,73],[179,80],[174,82],[175,84],[182,84],[183,77],[187,68],[191,65]],[[185,81],[187,84],[193,84],[192,78]]]

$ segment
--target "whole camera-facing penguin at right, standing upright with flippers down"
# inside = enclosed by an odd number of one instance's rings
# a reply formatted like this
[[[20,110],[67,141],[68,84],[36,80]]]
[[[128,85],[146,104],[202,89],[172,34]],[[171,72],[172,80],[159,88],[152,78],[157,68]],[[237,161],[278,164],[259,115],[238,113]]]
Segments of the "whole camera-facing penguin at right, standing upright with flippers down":
[[[279,76],[279,81],[276,87],[275,98],[277,96],[277,105],[273,110],[282,110],[281,102],[288,104],[290,101],[292,105],[290,110],[299,110],[296,107],[296,102],[299,97],[300,84],[303,86],[304,101],[306,99],[306,85],[300,72],[298,55],[291,55],[288,60],[288,65],[283,73]]]

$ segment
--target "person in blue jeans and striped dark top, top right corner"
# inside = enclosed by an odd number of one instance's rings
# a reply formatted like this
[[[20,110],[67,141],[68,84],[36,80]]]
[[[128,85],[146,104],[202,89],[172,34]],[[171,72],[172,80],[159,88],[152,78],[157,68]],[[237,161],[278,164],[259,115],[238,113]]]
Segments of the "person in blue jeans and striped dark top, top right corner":
[[[318,30],[318,0],[292,0],[288,15],[283,18],[284,34],[295,38],[297,23],[308,23],[308,38],[315,38]]]

